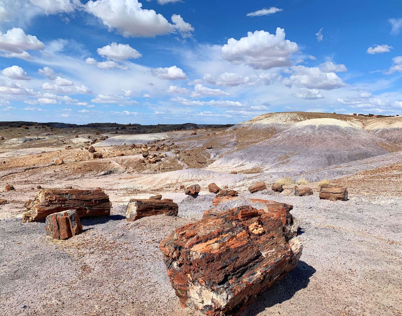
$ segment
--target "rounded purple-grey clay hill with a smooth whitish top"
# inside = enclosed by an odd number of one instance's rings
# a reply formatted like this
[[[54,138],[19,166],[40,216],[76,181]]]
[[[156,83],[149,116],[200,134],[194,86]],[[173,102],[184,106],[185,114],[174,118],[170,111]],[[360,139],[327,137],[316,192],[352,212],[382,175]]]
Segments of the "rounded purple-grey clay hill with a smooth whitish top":
[[[269,140],[227,154],[207,169],[307,171],[387,154],[379,146],[384,143],[387,142],[347,121],[308,119],[290,125]]]

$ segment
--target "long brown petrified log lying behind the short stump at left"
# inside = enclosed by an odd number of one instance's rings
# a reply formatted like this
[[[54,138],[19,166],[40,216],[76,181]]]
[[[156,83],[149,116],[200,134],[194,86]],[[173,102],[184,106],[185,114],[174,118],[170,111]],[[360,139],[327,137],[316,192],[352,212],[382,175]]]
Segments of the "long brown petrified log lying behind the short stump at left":
[[[68,209],[76,209],[80,217],[107,216],[110,215],[111,203],[109,196],[101,189],[46,189],[39,191],[37,197],[32,202],[25,202],[24,206],[28,211],[23,214],[23,222],[32,222]]]

